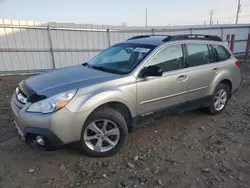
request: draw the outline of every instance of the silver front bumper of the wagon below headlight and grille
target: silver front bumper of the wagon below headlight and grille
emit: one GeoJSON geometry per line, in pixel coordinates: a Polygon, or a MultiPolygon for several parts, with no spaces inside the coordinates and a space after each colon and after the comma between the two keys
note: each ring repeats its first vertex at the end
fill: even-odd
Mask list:
{"type": "Polygon", "coordinates": [[[29,105],[21,105],[16,95],[12,96],[11,109],[17,132],[26,142],[30,135],[44,136],[52,147],[80,140],[82,126],[90,112],[71,112],[65,107],[50,114],[31,113],[26,111],[29,105]]]}

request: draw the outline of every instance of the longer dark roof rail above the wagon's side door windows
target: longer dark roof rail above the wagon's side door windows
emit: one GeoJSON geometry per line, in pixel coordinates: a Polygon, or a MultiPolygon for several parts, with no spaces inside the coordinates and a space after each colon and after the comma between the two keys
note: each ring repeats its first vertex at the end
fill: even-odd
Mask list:
{"type": "Polygon", "coordinates": [[[222,41],[222,39],[216,35],[200,35],[200,34],[187,34],[187,35],[173,35],[165,38],[163,42],[177,41],[177,40],[211,40],[222,41]]]}

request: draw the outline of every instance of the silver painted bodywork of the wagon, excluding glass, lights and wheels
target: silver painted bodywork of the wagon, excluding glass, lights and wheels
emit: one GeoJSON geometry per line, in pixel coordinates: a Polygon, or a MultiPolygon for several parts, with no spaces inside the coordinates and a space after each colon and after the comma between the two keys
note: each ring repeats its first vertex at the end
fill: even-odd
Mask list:
{"type": "MultiPolygon", "coordinates": [[[[137,39],[129,42],[139,43],[140,41],[142,43],[144,40],[137,39]]],[[[149,43],[150,39],[144,41],[144,44],[149,43]]],[[[211,43],[227,48],[222,42],[187,40],[164,43],[157,39],[153,44],[158,46],[127,75],[107,73],[82,65],[40,74],[26,80],[26,84],[39,95],[50,97],[72,89],[78,89],[78,91],[62,110],[47,115],[34,114],[26,112],[30,105],[26,104],[20,114],[14,114],[14,118],[22,130],[34,125],[46,127],[53,130],[64,143],[69,143],[80,140],[82,126],[87,117],[96,108],[109,102],[126,105],[132,118],[135,118],[168,106],[211,96],[216,86],[223,80],[229,80],[232,83],[232,92],[239,87],[240,69],[235,65],[236,59],[232,54],[232,57],[226,61],[165,72],[161,77],[140,78],[138,76],[162,49],[188,43],[211,43]],[[215,68],[219,70],[216,73],[213,72],[215,68]],[[178,78],[181,75],[186,75],[187,79],[179,82],[178,78]]],[[[13,104],[12,109],[14,109],[13,104]]]]}

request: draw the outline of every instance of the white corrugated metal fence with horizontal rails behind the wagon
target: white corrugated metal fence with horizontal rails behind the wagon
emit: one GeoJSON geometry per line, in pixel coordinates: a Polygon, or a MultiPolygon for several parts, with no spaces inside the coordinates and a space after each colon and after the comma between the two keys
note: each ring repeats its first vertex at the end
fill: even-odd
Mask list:
{"type": "Polygon", "coordinates": [[[0,75],[33,73],[86,62],[108,46],[135,35],[206,34],[226,40],[235,34],[234,53],[244,53],[250,24],[122,27],[0,19],[0,75]]]}

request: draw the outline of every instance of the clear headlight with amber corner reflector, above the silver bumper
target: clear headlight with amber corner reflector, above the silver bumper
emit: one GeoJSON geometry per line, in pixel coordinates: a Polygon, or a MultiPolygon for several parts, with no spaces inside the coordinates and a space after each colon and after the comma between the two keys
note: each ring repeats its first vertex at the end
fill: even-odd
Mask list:
{"type": "Polygon", "coordinates": [[[60,110],[74,97],[77,90],[71,90],[42,101],[33,103],[27,109],[28,112],[40,112],[43,114],[51,113],[56,110],[60,110]]]}

